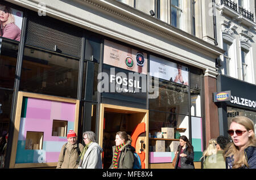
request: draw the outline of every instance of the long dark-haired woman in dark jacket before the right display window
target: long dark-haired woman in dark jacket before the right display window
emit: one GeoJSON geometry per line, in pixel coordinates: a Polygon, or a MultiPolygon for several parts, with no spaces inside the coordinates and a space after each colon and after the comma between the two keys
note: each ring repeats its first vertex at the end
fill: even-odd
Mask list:
{"type": "Polygon", "coordinates": [[[193,146],[189,142],[187,136],[180,136],[180,145],[175,152],[177,160],[175,169],[195,169],[193,146]]]}

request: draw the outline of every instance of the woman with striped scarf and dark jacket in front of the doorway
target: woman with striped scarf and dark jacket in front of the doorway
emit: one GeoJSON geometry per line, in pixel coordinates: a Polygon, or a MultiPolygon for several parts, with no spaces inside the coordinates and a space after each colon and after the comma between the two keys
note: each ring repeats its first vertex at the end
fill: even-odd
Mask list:
{"type": "Polygon", "coordinates": [[[132,169],[135,148],[131,146],[131,136],[125,131],[118,131],[115,135],[115,145],[113,146],[113,158],[110,168],[132,169]]]}

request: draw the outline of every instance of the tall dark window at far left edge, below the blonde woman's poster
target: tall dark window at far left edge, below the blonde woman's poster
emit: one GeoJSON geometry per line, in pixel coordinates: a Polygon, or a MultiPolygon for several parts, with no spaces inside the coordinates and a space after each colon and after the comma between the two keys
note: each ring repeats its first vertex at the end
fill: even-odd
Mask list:
{"type": "Polygon", "coordinates": [[[0,41],[0,168],[4,168],[19,44],[5,38],[0,41]]]}

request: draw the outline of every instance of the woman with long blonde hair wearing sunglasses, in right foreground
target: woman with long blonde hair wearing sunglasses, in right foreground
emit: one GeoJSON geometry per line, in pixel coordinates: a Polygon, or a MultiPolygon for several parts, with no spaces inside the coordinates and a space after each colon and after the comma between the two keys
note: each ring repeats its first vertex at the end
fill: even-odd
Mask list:
{"type": "Polygon", "coordinates": [[[256,138],[254,123],[245,116],[236,116],[231,119],[228,134],[233,143],[225,151],[226,168],[256,168],[256,138]]]}

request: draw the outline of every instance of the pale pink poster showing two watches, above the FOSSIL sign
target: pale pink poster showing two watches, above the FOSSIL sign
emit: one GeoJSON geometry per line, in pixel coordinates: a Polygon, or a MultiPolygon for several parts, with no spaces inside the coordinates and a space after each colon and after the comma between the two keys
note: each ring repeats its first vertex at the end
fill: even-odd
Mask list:
{"type": "Polygon", "coordinates": [[[147,54],[114,42],[104,41],[105,64],[147,74],[147,54]]]}

